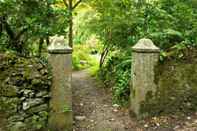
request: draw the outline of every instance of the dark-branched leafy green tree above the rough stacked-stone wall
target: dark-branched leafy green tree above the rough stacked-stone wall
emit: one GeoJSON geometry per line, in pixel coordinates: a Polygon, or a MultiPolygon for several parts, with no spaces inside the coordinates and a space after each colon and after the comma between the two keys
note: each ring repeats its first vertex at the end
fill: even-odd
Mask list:
{"type": "MultiPolygon", "coordinates": [[[[67,11],[56,6],[56,1],[0,0],[0,49],[33,54],[33,44],[66,33],[67,15],[67,11]]],[[[40,45],[40,51],[41,48],[40,45]]]]}

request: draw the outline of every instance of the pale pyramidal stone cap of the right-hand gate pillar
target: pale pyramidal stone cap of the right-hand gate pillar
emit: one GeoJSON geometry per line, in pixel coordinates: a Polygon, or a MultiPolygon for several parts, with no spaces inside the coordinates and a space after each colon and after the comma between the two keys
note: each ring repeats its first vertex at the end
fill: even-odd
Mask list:
{"type": "Polygon", "coordinates": [[[140,39],[136,45],[132,47],[134,52],[142,53],[158,53],[160,49],[153,44],[150,39],[140,39]]]}

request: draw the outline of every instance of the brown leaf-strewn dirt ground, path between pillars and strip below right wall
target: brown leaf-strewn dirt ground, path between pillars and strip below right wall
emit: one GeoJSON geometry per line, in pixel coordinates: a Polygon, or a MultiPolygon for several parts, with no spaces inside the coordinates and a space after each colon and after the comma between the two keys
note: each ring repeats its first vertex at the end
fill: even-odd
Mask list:
{"type": "Polygon", "coordinates": [[[112,104],[110,88],[87,70],[73,72],[73,131],[197,131],[197,113],[137,121],[128,108],[112,104]]]}

